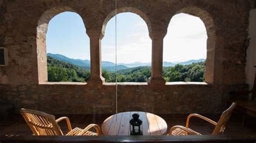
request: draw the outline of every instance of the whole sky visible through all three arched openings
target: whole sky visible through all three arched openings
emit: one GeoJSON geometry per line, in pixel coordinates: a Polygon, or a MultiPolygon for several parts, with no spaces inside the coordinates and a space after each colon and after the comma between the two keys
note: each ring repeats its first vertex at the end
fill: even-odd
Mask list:
{"type": "MultiPolygon", "coordinates": [[[[115,17],[106,25],[102,39],[102,60],[115,62],[115,17]]],[[[207,34],[198,17],[184,13],[172,17],[164,38],[163,61],[206,59],[207,34]]],[[[117,15],[117,62],[151,62],[151,39],[144,20],[125,12],[117,15]]],[[[74,12],[53,17],[46,33],[48,53],[90,60],[90,39],[82,18],[74,12]]]]}

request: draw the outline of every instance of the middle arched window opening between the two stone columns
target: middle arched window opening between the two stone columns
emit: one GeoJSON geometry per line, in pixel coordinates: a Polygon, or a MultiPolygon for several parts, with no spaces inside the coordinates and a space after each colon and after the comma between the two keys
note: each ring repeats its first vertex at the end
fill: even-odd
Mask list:
{"type": "MultiPolygon", "coordinates": [[[[115,82],[115,18],[102,40],[102,75],[115,82]]],[[[117,15],[117,82],[147,82],[151,76],[151,39],[145,21],[131,12],[117,15]]]]}

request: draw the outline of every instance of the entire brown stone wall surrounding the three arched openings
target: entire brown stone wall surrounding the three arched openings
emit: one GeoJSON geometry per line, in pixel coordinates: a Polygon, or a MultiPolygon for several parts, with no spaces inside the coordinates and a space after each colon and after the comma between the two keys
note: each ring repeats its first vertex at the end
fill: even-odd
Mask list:
{"type": "MultiPolygon", "coordinates": [[[[149,85],[119,85],[119,111],[154,113],[219,113],[228,92],[245,85],[248,16],[254,1],[119,0],[118,13],[142,17],[152,39],[149,85]],[[163,38],[172,16],[184,12],[200,17],[207,30],[206,82],[167,85],[161,77],[163,38]]],[[[0,46],[8,48],[9,66],[0,67],[0,100],[20,108],[51,113],[113,113],[114,85],[104,83],[100,40],[114,16],[114,1],[0,0],[0,46]],[[49,84],[45,34],[60,12],[77,12],[90,37],[91,78],[87,84],[49,84]]]]}

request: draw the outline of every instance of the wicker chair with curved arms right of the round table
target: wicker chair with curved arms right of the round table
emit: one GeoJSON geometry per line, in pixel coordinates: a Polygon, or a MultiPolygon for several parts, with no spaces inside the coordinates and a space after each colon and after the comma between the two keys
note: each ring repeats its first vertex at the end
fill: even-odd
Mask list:
{"type": "Polygon", "coordinates": [[[228,108],[221,114],[218,123],[216,123],[215,121],[208,119],[204,116],[193,113],[193,114],[187,116],[186,127],[173,126],[170,129],[169,135],[201,135],[200,133],[193,131],[188,127],[191,117],[198,117],[198,118],[208,121],[208,123],[215,125],[212,135],[224,133],[227,121],[228,121],[228,119],[230,119],[231,113],[234,110],[235,105],[236,105],[236,103],[233,102],[232,105],[230,106],[230,108],[228,108]]]}

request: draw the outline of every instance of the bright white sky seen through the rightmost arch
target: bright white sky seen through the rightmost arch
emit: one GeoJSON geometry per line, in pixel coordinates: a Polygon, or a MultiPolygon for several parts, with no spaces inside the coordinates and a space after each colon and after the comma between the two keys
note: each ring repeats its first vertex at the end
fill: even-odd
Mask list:
{"type": "Polygon", "coordinates": [[[164,38],[164,61],[206,58],[206,28],[200,18],[180,13],[173,16],[164,38]]]}

